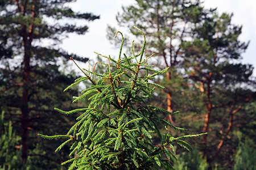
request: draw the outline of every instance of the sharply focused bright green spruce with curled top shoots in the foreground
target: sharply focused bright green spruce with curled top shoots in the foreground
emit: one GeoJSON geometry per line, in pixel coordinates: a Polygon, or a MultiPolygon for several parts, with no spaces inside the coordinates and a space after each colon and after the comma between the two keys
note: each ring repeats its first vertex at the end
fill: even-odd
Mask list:
{"type": "MultiPolygon", "coordinates": [[[[142,32],[141,29],[138,30],[142,32]]],[[[115,37],[118,33],[122,35],[117,32],[115,37]]],[[[67,141],[56,151],[67,143],[72,144],[69,154],[72,159],[63,163],[71,163],[69,169],[174,169],[171,164],[176,159],[173,144],[177,143],[186,150],[191,150],[192,147],[183,139],[203,135],[172,136],[168,128],[182,131],[187,129],[177,128],[159,118],[158,114],[174,115],[179,112],[171,113],[147,104],[146,100],[152,97],[155,87],[164,88],[151,80],[166,73],[169,68],[158,71],[152,68],[154,66],[148,65],[151,56],[143,55],[146,45],[144,33],[143,36],[144,42],[139,54],[134,53],[133,42],[132,56],[123,54],[121,58],[124,41],[122,36],[118,59],[101,55],[108,59],[108,63],[96,63],[106,67],[105,73],[96,73],[95,66],[93,70],[81,69],[85,76],[65,88],[64,91],[67,91],[84,80],[89,80],[92,84],[73,100],[75,103],[92,95],[88,107],[68,112],[55,108],[63,114],[81,113],[67,134],[39,134],[46,139],[66,138],[67,141]],[[148,74],[149,71],[154,74],[148,74]],[[157,145],[152,143],[154,134],[160,141],[157,145]]]]}

